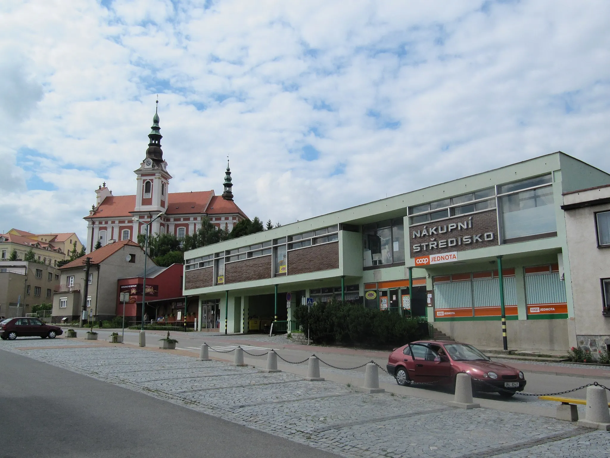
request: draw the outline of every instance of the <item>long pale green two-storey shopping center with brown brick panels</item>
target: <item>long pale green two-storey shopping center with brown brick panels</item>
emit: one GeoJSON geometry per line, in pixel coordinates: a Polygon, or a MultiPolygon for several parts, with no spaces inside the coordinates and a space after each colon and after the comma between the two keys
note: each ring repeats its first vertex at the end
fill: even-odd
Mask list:
{"type": "MultiPolygon", "coordinates": [[[[565,350],[578,340],[570,261],[584,253],[570,252],[564,195],[608,184],[608,173],[547,154],[192,250],[184,294],[198,296],[199,316],[212,312],[221,330],[226,319],[228,332],[290,321],[303,297],[334,297],[402,309],[493,347],[502,347],[503,300],[510,348],[565,350]]],[[[604,265],[587,275],[607,279],[604,265]]],[[[595,335],[610,337],[601,301],[578,304],[592,310],[581,313],[578,335],[589,335],[591,321],[595,335]]]]}

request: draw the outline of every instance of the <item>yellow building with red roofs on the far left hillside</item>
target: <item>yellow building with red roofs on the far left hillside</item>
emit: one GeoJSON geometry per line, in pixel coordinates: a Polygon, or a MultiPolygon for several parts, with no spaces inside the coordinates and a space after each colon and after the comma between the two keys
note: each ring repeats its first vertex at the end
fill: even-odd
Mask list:
{"type": "Polygon", "coordinates": [[[9,260],[10,254],[15,250],[18,260],[24,260],[26,253],[31,249],[38,263],[57,266],[59,261],[69,258],[74,250],[82,249],[81,241],[73,233],[33,234],[27,231],[11,229],[0,234],[0,259],[9,260]]]}

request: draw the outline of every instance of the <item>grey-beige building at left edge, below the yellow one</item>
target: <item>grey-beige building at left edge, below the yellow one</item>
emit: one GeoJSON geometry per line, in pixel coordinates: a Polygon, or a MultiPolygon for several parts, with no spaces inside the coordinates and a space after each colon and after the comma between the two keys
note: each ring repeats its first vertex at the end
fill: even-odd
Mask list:
{"type": "Polygon", "coordinates": [[[48,264],[0,261],[0,316],[25,316],[32,305],[51,304],[59,270],[48,264]]]}

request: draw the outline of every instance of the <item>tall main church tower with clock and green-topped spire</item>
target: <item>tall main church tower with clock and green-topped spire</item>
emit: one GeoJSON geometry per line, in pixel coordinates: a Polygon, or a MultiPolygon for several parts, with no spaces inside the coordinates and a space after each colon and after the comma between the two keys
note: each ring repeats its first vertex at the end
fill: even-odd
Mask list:
{"type": "MultiPolygon", "coordinates": [[[[163,150],[161,149],[163,136],[160,134],[158,113],[159,100],[156,103],[157,108],[154,117],[152,117],[151,133],[148,134],[150,142],[146,150],[146,158],[140,164],[140,168],[134,170],[135,175],[137,175],[133,212],[135,216],[140,212],[154,214],[167,211],[171,175],[167,172],[167,162],[163,160],[163,150]]],[[[152,232],[155,233],[156,231],[153,230],[152,232]]]]}

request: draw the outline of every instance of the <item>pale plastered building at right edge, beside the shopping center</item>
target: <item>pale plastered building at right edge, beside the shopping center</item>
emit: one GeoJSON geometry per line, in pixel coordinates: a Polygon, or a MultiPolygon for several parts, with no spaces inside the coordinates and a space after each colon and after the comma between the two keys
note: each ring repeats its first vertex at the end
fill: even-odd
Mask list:
{"type": "Polygon", "coordinates": [[[576,343],[610,351],[610,186],[564,193],[576,343]]]}

